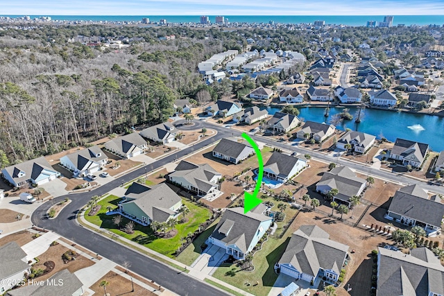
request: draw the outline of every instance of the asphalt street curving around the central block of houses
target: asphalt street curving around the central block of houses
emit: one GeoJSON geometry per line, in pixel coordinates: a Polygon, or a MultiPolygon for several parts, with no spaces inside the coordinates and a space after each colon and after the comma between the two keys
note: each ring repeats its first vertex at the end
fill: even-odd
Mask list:
{"type": "MultiPolygon", "coordinates": [[[[179,129],[181,128],[181,123],[182,121],[178,121],[177,123],[175,123],[179,129]]],[[[174,293],[178,293],[179,295],[226,295],[225,293],[221,292],[221,290],[217,290],[216,288],[205,284],[203,281],[198,281],[193,277],[189,277],[189,275],[178,273],[177,270],[169,268],[168,265],[164,265],[163,263],[150,259],[142,254],[139,254],[138,252],[131,250],[129,247],[120,245],[108,238],[104,238],[103,236],[100,236],[99,234],[96,234],[88,229],[79,227],[75,222],[78,210],[88,202],[92,195],[103,195],[116,188],[117,186],[120,186],[122,183],[133,180],[140,175],[144,175],[145,168],[147,168],[147,170],[149,171],[153,171],[160,166],[164,166],[165,164],[174,162],[180,157],[184,157],[189,153],[193,153],[200,148],[210,145],[211,143],[214,143],[221,138],[241,135],[241,132],[238,130],[225,128],[221,125],[207,123],[205,121],[200,121],[200,123],[194,125],[194,128],[200,128],[201,126],[205,128],[212,128],[213,130],[216,130],[218,134],[216,134],[214,137],[211,137],[210,139],[198,142],[194,146],[180,150],[177,153],[168,155],[167,157],[157,160],[152,164],[148,164],[142,168],[137,169],[136,171],[123,175],[108,184],[94,189],[93,191],[69,194],[55,198],[55,202],[59,202],[67,197],[72,200],[71,203],[68,204],[67,207],[65,207],[65,209],[60,212],[56,219],[43,220],[43,217],[46,215],[46,211],[49,209],[49,207],[51,207],[51,202],[45,202],[33,213],[31,217],[33,224],[37,225],[38,227],[51,229],[54,232],[57,232],[58,234],[69,238],[71,241],[87,247],[89,250],[92,250],[93,252],[96,252],[101,256],[105,256],[115,263],[122,264],[123,261],[128,261],[131,263],[130,270],[133,270],[134,272],[137,272],[139,275],[142,275],[148,279],[156,281],[158,284],[164,286],[169,290],[172,290],[174,293]]],[[[184,126],[184,128],[187,127],[184,126]]],[[[317,151],[293,146],[289,142],[282,143],[259,136],[253,136],[253,139],[255,139],[256,141],[264,142],[268,145],[276,146],[278,148],[292,150],[297,153],[310,153],[314,159],[318,159],[323,162],[336,162],[338,160],[336,159],[336,157],[325,155],[323,153],[318,153],[317,151]]],[[[441,186],[430,185],[426,182],[421,182],[419,180],[405,177],[404,175],[398,175],[395,173],[370,168],[369,166],[365,166],[364,164],[357,164],[346,159],[339,159],[339,162],[343,165],[350,166],[350,168],[353,168],[364,174],[374,175],[375,177],[381,177],[386,180],[392,180],[403,184],[420,184],[424,189],[444,194],[444,188],[441,186]]]]}

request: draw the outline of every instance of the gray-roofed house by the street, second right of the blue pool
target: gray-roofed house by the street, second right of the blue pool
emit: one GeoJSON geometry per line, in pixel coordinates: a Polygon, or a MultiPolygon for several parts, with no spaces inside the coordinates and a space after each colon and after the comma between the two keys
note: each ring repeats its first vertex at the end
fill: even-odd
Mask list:
{"type": "Polygon", "coordinates": [[[322,175],[321,180],[316,184],[316,191],[326,195],[328,191],[338,189],[339,193],[333,197],[333,200],[350,207],[350,198],[361,195],[366,188],[366,183],[366,180],[357,177],[348,166],[339,166],[322,175]]]}

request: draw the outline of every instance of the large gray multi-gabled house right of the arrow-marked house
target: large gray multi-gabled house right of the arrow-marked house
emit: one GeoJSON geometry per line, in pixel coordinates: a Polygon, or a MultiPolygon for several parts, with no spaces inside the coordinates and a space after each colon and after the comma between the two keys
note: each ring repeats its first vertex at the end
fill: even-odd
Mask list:
{"type": "Polygon", "coordinates": [[[316,225],[301,225],[276,263],[280,273],[302,281],[319,277],[336,284],[348,258],[348,245],[330,240],[330,234],[316,225]]]}

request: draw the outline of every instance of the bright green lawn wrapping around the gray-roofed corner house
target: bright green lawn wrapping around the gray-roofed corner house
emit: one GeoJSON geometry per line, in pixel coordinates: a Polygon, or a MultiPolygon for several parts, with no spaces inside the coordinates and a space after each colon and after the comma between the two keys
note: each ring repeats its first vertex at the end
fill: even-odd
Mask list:
{"type": "MultiPolygon", "coordinates": [[[[117,225],[112,223],[112,218],[114,215],[108,216],[105,214],[108,211],[108,206],[111,206],[113,209],[117,208],[117,203],[119,200],[121,200],[121,198],[115,195],[110,195],[107,198],[104,198],[98,202],[98,204],[101,205],[101,209],[96,216],[88,216],[87,214],[89,213],[89,209],[85,212],[86,220],[171,258],[173,257],[174,252],[176,252],[180,246],[180,238],[185,238],[189,232],[195,232],[200,224],[205,223],[205,221],[211,217],[211,213],[208,209],[199,207],[196,204],[182,199],[183,204],[185,204],[190,211],[190,213],[187,215],[188,222],[176,225],[178,234],[176,234],[176,236],[173,238],[158,238],[155,236],[151,227],[142,226],[137,223],[135,223],[134,233],[126,234],[125,232],[119,230],[117,225]]],[[[121,227],[126,225],[128,222],[129,220],[127,218],[123,218],[121,227]]]]}

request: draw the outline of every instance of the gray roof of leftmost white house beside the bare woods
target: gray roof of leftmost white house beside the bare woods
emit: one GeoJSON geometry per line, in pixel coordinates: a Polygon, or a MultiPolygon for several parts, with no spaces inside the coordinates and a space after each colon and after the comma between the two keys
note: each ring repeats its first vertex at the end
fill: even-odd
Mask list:
{"type": "Polygon", "coordinates": [[[7,171],[16,183],[29,179],[35,180],[43,170],[56,172],[56,170],[51,167],[51,164],[49,164],[44,157],[37,157],[36,159],[31,159],[27,162],[14,164],[13,166],[3,168],[3,170],[7,171]],[[20,172],[24,172],[25,175],[23,177],[19,177],[18,175],[20,172]]]}

